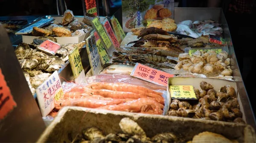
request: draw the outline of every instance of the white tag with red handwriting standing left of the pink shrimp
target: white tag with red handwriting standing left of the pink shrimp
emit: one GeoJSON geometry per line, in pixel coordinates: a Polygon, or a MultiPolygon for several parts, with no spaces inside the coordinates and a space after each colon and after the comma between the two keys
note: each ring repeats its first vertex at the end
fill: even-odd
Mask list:
{"type": "Polygon", "coordinates": [[[61,90],[61,80],[57,71],[52,73],[52,75],[35,90],[43,117],[46,117],[55,107],[54,100],[58,101],[58,99],[62,97],[63,90],[61,90]]]}

